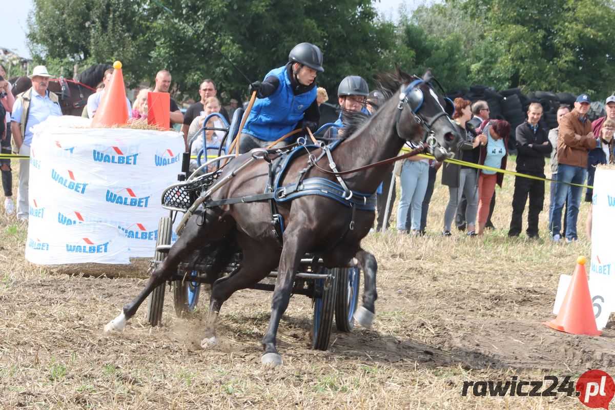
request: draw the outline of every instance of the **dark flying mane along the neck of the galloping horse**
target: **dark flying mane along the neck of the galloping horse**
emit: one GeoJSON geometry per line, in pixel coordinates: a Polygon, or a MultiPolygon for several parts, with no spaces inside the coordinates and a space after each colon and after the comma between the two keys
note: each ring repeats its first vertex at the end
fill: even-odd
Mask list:
{"type": "MultiPolygon", "coordinates": [[[[378,111],[385,101],[389,100],[402,87],[403,82],[410,82],[416,79],[416,76],[404,73],[399,67],[395,66],[394,73],[376,73],[376,90],[370,93],[376,101],[371,103],[375,108],[374,112],[378,111]]],[[[372,100],[373,101],[373,100],[372,100]]],[[[359,128],[370,119],[368,114],[362,111],[346,111],[344,110],[344,135],[351,136],[359,128]]]]}

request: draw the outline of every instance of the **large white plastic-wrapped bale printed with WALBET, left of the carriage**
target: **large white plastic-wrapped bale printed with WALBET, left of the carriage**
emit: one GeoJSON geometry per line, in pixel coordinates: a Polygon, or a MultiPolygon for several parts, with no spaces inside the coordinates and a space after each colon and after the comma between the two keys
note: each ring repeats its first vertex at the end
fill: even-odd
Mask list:
{"type": "Polygon", "coordinates": [[[161,195],[177,182],[183,136],[87,124],[50,117],[34,128],[28,261],[123,264],[154,254],[159,219],[169,215],[161,195]]]}

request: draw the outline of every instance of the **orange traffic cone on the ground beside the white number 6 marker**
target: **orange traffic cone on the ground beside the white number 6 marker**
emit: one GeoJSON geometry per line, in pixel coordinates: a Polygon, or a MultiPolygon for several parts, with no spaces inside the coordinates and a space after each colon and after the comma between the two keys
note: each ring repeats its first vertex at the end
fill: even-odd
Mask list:
{"type": "Polygon", "coordinates": [[[586,261],[584,256],[577,258],[577,267],[568,285],[566,296],[561,302],[560,312],[555,320],[544,324],[566,333],[600,336],[602,332],[596,326],[592,296],[589,294],[589,283],[585,273],[586,261]]]}

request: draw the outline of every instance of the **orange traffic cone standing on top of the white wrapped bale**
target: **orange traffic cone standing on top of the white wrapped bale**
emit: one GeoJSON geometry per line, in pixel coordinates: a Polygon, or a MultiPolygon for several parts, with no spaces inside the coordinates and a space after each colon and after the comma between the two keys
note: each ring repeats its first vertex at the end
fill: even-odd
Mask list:
{"type": "Polygon", "coordinates": [[[124,90],[124,76],[122,75],[122,63],[113,63],[113,77],[108,89],[98,105],[96,114],[90,127],[111,127],[128,122],[128,109],[126,106],[126,92],[124,90]]]}

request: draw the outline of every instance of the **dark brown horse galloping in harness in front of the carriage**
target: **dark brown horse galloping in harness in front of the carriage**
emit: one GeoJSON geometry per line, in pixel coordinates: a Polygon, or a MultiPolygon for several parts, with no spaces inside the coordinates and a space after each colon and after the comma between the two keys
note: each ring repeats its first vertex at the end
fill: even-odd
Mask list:
{"type": "MultiPolygon", "coordinates": [[[[423,79],[410,76],[399,69],[395,74],[381,77],[382,91],[387,96],[381,107],[363,124],[347,128],[351,135],[331,151],[337,169],[352,170],[363,165],[395,157],[406,141],[418,143],[427,140],[438,159],[450,151],[456,151],[459,132],[456,125],[446,116],[444,98],[435,93],[430,84],[431,72],[423,79]]],[[[435,79],[434,79],[435,81],[435,79]]],[[[250,160],[244,154],[232,160],[224,168],[220,178],[229,175],[240,165],[250,160]]],[[[322,157],[318,162],[328,168],[329,160],[322,157]]],[[[289,165],[284,185],[295,183],[300,171],[308,165],[308,155],[303,154],[289,165]]],[[[349,177],[344,181],[352,191],[375,192],[392,165],[373,167],[349,177]]],[[[336,177],[312,167],[307,177],[329,179],[336,183],[336,177]]],[[[218,179],[220,181],[220,178],[218,179]]],[[[263,192],[268,181],[268,164],[264,160],[253,162],[239,171],[221,189],[212,195],[212,200],[228,199],[263,192]]],[[[276,287],[273,293],[271,319],[263,338],[264,355],[262,363],[279,365],[282,357],[276,349],[276,334],[280,318],[285,312],[292,294],[295,274],[304,254],[317,254],[326,267],[359,266],[365,277],[362,306],[357,309],[355,319],[367,328],[375,313],[376,258],[363,250],[360,242],[373,226],[375,213],[357,210],[354,215],[354,229],[349,229],[351,208],[335,200],[317,195],[306,195],[289,202],[281,202],[279,213],[285,221],[284,240],[277,240],[271,229],[271,210],[267,202],[235,203],[216,207],[198,208],[188,219],[181,236],[170,248],[167,258],[154,269],[145,289],[122,309],[122,313],[105,326],[105,331],[121,331],[128,318],[135,315],[143,302],[157,286],[177,272],[178,264],[194,251],[215,244],[232,250],[242,250],[243,259],[238,270],[216,280],[212,286],[208,313],[208,329],[201,342],[204,348],[216,344],[215,325],[220,308],[235,291],[249,288],[278,267],[276,287]]],[[[216,266],[226,266],[232,251],[218,254],[216,266]]],[[[212,268],[213,269],[213,268],[212,268]]],[[[209,272],[208,272],[209,273],[209,272]]],[[[214,272],[217,274],[218,272],[214,272]]]]}

